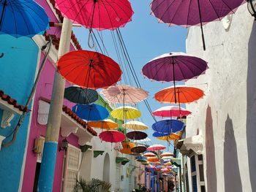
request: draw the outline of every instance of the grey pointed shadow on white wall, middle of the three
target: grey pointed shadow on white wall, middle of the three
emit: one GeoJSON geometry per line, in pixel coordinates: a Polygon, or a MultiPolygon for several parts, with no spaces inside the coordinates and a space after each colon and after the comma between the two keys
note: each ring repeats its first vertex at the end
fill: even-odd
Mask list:
{"type": "Polygon", "coordinates": [[[233,122],[229,115],[227,115],[227,120],[225,123],[224,179],[225,192],[243,191],[238,166],[238,154],[233,130],[233,122]]]}

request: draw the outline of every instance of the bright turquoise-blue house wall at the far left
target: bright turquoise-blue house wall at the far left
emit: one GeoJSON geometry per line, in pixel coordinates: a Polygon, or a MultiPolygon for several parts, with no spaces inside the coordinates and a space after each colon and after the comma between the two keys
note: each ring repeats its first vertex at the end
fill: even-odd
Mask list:
{"type": "MultiPolygon", "coordinates": [[[[18,104],[24,105],[34,83],[39,48],[32,39],[27,37],[16,39],[9,35],[0,35],[1,53],[4,53],[4,57],[0,58],[0,89],[16,99],[18,104]]],[[[18,191],[29,115],[30,112],[19,128],[15,143],[10,147],[1,147],[0,191],[18,191]]],[[[18,122],[18,118],[19,115],[15,115],[11,121],[11,127],[0,128],[0,134],[10,135],[18,122]]],[[[7,139],[4,141],[6,142],[7,139]]]]}

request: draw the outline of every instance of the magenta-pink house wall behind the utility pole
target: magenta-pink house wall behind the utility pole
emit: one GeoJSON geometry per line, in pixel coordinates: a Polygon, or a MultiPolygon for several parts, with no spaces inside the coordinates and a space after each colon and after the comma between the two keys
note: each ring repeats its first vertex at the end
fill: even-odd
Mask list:
{"type": "MultiPolygon", "coordinates": [[[[50,18],[50,21],[57,21],[55,15],[51,11],[47,1],[45,0],[37,0],[37,2],[45,8],[48,17],[50,18]]],[[[56,34],[57,37],[60,36],[60,30],[59,28],[50,28],[50,30],[47,31],[48,34],[56,34]]],[[[72,46],[71,50],[74,50],[72,46]]],[[[43,58],[43,54],[41,55],[41,60],[43,58]]],[[[23,186],[22,191],[23,192],[30,192],[33,191],[34,186],[34,175],[36,171],[37,166],[37,154],[33,152],[34,148],[34,139],[42,136],[45,136],[46,126],[39,125],[37,123],[37,115],[38,115],[38,104],[39,104],[39,97],[45,97],[46,99],[50,99],[52,89],[53,89],[53,79],[54,79],[54,72],[55,69],[53,67],[53,64],[50,63],[48,60],[45,64],[45,67],[43,69],[43,72],[41,74],[39,83],[37,85],[37,91],[35,93],[34,97],[34,107],[32,110],[32,120],[31,120],[31,129],[29,133],[29,144],[28,144],[28,150],[26,155],[26,164],[25,164],[25,171],[24,171],[24,177],[23,177],[23,186]]],[[[70,85],[68,82],[66,83],[66,86],[70,85]]],[[[70,103],[69,101],[64,99],[64,104],[68,107],[72,107],[74,104],[70,103]]],[[[59,143],[61,140],[64,139],[63,137],[59,137],[59,143]]],[[[78,138],[75,137],[75,135],[70,135],[67,140],[71,145],[74,145],[78,147],[78,138]]],[[[53,183],[53,191],[60,191],[61,190],[61,177],[62,177],[62,166],[63,166],[63,158],[64,158],[64,151],[61,152],[58,151],[57,153],[57,159],[56,159],[56,169],[55,169],[55,178],[53,183]]]]}

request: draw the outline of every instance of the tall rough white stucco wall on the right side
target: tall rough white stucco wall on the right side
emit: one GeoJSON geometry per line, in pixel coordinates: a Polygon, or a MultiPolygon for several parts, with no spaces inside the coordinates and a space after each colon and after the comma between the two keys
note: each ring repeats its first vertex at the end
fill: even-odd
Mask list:
{"type": "MultiPolygon", "coordinates": [[[[187,104],[187,137],[202,131],[206,189],[256,191],[256,23],[246,4],[225,31],[222,22],[204,26],[206,51],[199,27],[189,28],[187,53],[208,61],[209,69],[186,85],[205,95],[187,104]]],[[[191,183],[190,183],[191,185],[191,183]]]]}

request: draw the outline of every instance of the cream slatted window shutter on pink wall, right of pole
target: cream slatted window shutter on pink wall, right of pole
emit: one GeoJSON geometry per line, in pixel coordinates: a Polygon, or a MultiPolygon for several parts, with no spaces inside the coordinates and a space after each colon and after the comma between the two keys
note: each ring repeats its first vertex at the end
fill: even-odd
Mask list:
{"type": "Polygon", "coordinates": [[[72,192],[77,183],[78,170],[80,166],[80,149],[69,145],[67,147],[67,155],[64,162],[64,183],[62,191],[72,192]]]}

